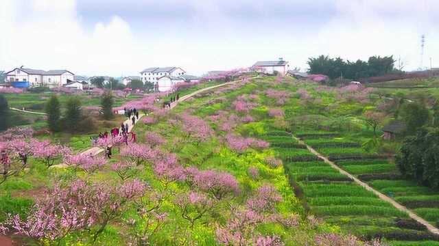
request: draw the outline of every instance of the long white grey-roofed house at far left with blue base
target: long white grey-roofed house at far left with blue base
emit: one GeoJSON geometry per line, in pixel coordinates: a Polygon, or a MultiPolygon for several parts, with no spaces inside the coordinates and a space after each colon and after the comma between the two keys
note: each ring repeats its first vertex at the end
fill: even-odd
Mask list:
{"type": "Polygon", "coordinates": [[[36,70],[31,68],[14,68],[6,72],[6,81],[14,87],[60,87],[74,80],[75,74],[68,70],[36,70]]]}

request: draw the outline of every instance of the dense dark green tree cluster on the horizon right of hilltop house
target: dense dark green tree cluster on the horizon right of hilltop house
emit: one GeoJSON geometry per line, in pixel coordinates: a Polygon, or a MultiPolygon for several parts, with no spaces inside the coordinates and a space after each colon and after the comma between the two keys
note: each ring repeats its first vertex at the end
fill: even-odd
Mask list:
{"type": "Polygon", "coordinates": [[[324,74],[330,79],[343,77],[346,79],[359,79],[366,77],[376,77],[394,72],[393,56],[372,56],[368,61],[349,61],[337,57],[320,55],[319,57],[310,57],[308,59],[309,70],[311,74],[324,74]]]}

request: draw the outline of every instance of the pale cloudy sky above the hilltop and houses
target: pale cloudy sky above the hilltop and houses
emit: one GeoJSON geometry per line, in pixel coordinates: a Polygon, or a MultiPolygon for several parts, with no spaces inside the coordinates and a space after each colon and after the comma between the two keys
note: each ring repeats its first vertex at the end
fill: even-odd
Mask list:
{"type": "Polygon", "coordinates": [[[0,0],[0,70],[188,74],[318,55],[439,67],[437,0],[0,0]]]}

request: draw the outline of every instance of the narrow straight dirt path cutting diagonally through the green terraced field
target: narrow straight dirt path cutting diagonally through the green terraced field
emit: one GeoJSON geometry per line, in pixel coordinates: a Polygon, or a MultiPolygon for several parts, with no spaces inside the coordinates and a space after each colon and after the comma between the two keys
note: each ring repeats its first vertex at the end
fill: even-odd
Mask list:
{"type": "Polygon", "coordinates": [[[423,218],[419,217],[418,215],[416,215],[415,213],[413,213],[412,210],[410,210],[410,209],[406,208],[405,206],[399,204],[398,202],[396,202],[392,198],[388,197],[387,195],[384,195],[383,193],[377,191],[376,189],[373,189],[368,184],[366,184],[365,182],[359,180],[357,177],[353,176],[352,174],[344,171],[344,169],[342,169],[339,166],[337,166],[333,161],[329,161],[329,159],[327,159],[326,156],[323,156],[322,154],[320,154],[319,152],[317,152],[316,150],[311,148],[311,146],[307,145],[305,143],[305,141],[302,141],[302,140],[300,140],[300,139],[298,139],[296,137],[294,137],[294,138],[297,139],[299,143],[305,144],[307,146],[307,149],[309,150],[309,152],[311,152],[313,154],[316,154],[316,156],[318,156],[320,159],[322,159],[325,163],[328,163],[329,165],[331,165],[331,167],[333,167],[334,169],[337,169],[337,171],[340,172],[341,174],[344,174],[344,175],[348,176],[349,178],[354,180],[354,182],[356,182],[357,184],[361,185],[361,187],[364,187],[364,189],[366,189],[368,191],[372,191],[381,200],[384,200],[385,202],[389,202],[390,204],[392,204],[396,209],[400,210],[401,212],[407,213],[412,219],[414,219],[414,220],[418,221],[419,223],[423,224],[424,226],[426,226],[427,229],[429,230],[429,232],[434,233],[434,234],[439,234],[438,228],[434,227],[433,225],[431,225],[431,223],[429,223],[425,219],[423,219],[423,218]]]}

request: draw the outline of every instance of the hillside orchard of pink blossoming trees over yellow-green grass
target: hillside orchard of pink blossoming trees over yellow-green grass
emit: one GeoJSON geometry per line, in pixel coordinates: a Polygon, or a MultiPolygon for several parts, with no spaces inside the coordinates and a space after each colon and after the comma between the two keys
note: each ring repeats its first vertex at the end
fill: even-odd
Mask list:
{"type": "Polygon", "coordinates": [[[94,142],[115,147],[111,159],[36,139],[25,128],[0,134],[7,156],[0,205],[19,204],[20,196],[34,201],[0,206],[0,233],[37,245],[366,245],[308,217],[285,176],[290,162],[282,154],[297,143],[276,122],[296,107],[294,86],[289,78],[244,75],[172,111],[158,106],[161,94],[127,102],[118,109],[150,115],[133,128],[136,143],[94,142]]]}

